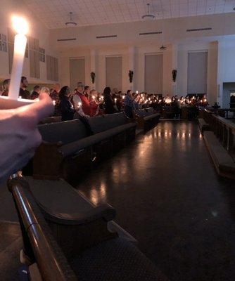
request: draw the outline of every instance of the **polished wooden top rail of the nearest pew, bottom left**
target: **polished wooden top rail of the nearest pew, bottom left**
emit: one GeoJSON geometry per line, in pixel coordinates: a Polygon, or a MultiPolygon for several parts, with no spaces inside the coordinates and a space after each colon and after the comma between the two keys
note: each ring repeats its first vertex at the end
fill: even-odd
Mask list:
{"type": "Polygon", "coordinates": [[[39,207],[22,178],[8,181],[15,205],[30,240],[30,245],[44,281],[75,281],[77,277],[68,265],[58,244],[53,239],[49,226],[44,221],[39,207]]]}

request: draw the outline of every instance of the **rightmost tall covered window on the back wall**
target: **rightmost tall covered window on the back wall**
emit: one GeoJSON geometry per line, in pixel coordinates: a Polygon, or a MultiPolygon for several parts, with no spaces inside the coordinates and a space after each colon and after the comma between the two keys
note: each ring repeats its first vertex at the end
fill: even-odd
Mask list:
{"type": "Polygon", "coordinates": [[[208,51],[188,53],[188,93],[207,93],[208,51]]]}

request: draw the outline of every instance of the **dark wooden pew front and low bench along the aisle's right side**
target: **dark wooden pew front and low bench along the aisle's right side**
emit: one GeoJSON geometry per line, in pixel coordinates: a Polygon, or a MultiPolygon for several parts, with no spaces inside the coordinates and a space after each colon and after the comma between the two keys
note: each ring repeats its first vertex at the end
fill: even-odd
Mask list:
{"type": "Polygon", "coordinates": [[[235,123],[203,109],[199,112],[198,125],[217,174],[235,179],[235,123]]]}

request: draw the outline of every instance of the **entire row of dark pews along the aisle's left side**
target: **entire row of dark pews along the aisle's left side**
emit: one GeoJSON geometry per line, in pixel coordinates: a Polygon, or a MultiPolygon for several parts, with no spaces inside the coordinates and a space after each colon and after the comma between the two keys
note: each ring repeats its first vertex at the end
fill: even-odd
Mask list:
{"type": "Polygon", "coordinates": [[[115,209],[92,204],[70,184],[131,143],[136,128],[158,123],[158,114],[144,112],[134,119],[120,112],[39,124],[42,145],[24,176],[8,181],[24,242],[24,280],[167,281],[134,237],[115,223],[115,209]],[[140,120],[147,116],[143,125],[140,120]]]}

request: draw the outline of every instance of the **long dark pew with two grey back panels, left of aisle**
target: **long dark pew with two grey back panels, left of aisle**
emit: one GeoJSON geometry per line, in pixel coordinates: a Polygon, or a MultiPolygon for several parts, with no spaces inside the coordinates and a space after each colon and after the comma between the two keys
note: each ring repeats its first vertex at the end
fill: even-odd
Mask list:
{"type": "Polygon", "coordinates": [[[65,178],[70,183],[91,169],[92,163],[112,155],[135,138],[136,123],[124,113],[39,125],[43,143],[33,157],[33,176],[65,178]]]}

